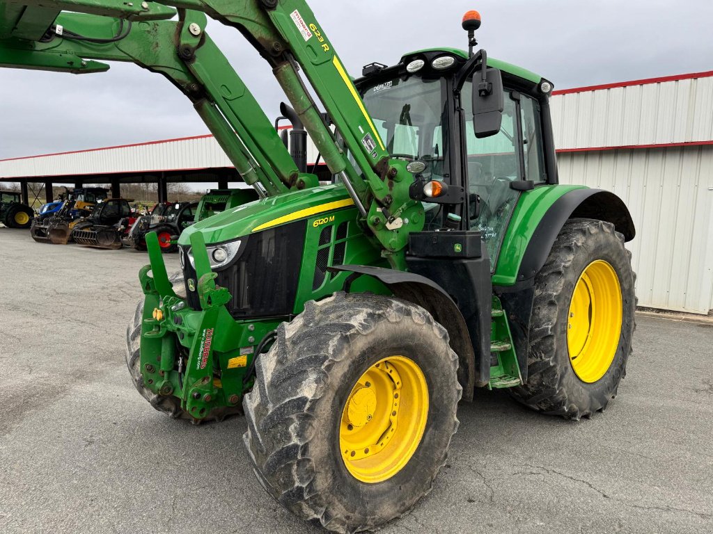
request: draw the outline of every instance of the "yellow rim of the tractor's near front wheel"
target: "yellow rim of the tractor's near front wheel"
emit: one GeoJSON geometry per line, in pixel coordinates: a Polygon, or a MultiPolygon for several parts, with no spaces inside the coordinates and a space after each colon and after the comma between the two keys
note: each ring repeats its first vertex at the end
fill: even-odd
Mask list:
{"type": "Polygon", "coordinates": [[[359,377],[342,409],[339,446],[361,482],[388,480],[419,448],[429,416],[421,367],[404,356],[379,360],[359,377]]]}

